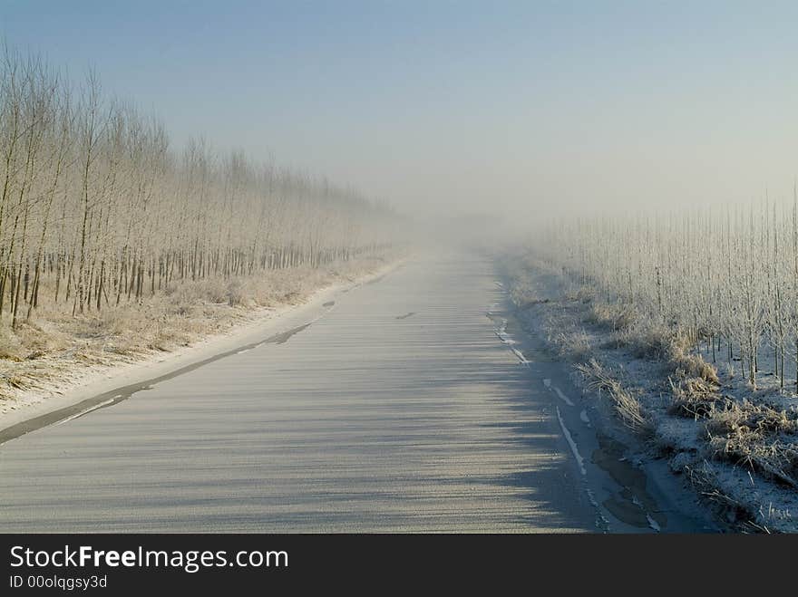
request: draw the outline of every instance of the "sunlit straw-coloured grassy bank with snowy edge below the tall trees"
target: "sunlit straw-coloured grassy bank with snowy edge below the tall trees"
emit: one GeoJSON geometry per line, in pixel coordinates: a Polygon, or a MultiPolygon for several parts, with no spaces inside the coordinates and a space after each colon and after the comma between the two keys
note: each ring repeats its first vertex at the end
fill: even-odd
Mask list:
{"type": "MultiPolygon", "coordinates": [[[[35,326],[41,353],[0,361],[0,378],[5,380],[0,389],[0,429],[312,320],[333,307],[336,294],[379,278],[402,261],[394,255],[279,272],[258,281],[263,289],[254,289],[257,301],[236,306],[175,293],[117,310],[110,314],[112,319],[39,320],[35,326]],[[91,334],[83,330],[88,327],[91,334]]],[[[101,406],[92,404],[91,409],[101,406]]]]}

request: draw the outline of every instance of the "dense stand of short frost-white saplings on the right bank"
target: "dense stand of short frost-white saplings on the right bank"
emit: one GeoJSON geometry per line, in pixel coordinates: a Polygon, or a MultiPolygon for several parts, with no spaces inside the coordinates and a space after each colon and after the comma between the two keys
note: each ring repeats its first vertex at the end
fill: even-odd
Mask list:
{"type": "MultiPolygon", "coordinates": [[[[793,193],[794,195],[794,193],[793,193]]],[[[612,302],[706,342],[755,388],[764,360],[798,387],[798,202],[546,226],[537,251],[612,302]]]]}

